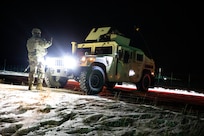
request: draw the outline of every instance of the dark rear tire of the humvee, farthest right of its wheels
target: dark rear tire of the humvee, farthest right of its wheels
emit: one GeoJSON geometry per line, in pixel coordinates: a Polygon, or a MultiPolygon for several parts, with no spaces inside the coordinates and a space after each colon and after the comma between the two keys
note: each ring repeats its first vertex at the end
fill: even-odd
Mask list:
{"type": "Polygon", "coordinates": [[[151,77],[150,74],[144,73],[141,80],[136,83],[137,90],[147,92],[151,85],[151,77]]]}

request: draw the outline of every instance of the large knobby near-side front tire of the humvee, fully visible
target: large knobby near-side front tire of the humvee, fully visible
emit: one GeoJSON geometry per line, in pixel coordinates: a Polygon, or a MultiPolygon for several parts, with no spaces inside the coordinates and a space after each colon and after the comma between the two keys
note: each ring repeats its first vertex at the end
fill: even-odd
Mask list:
{"type": "Polygon", "coordinates": [[[81,72],[80,88],[88,95],[98,94],[105,83],[105,73],[101,67],[93,66],[87,71],[81,72]]]}

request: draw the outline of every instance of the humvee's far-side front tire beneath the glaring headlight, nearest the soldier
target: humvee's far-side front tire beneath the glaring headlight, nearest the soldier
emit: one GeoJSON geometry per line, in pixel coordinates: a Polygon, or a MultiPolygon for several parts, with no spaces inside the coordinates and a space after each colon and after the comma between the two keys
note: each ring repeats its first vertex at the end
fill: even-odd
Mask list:
{"type": "Polygon", "coordinates": [[[68,78],[52,76],[49,69],[45,72],[45,84],[50,88],[63,88],[67,84],[68,78]]]}

